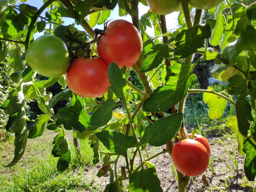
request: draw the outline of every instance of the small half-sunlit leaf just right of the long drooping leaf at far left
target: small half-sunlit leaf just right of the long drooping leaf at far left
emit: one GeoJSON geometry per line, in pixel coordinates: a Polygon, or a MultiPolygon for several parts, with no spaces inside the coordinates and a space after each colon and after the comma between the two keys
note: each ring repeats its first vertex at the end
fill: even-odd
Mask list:
{"type": "Polygon", "coordinates": [[[33,139],[41,136],[44,133],[49,120],[50,117],[48,115],[38,115],[38,118],[36,118],[35,121],[36,123],[31,127],[30,131],[28,132],[28,138],[33,139]]]}

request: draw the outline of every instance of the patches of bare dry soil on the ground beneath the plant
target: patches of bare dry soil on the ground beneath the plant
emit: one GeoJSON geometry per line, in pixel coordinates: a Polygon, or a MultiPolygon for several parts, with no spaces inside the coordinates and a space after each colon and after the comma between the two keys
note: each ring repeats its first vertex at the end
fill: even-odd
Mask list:
{"type": "MultiPolygon", "coordinates": [[[[37,138],[38,140],[42,140],[42,142],[49,142],[49,146],[52,146],[52,139],[57,133],[47,131],[44,135],[42,135],[40,138],[37,138]]],[[[72,142],[72,132],[68,133],[68,139],[70,142],[72,142]]],[[[190,180],[189,186],[187,188],[188,192],[252,192],[254,191],[253,186],[254,182],[249,182],[243,173],[243,163],[244,163],[244,156],[240,156],[238,152],[236,152],[236,158],[238,160],[238,173],[232,172],[228,169],[228,167],[224,164],[224,162],[220,159],[223,158],[223,160],[232,168],[235,170],[235,166],[232,163],[231,159],[225,152],[224,148],[221,146],[219,138],[208,138],[210,144],[211,144],[211,158],[213,160],[213,169],[215,170],[215,173],[212,173],[210,168],[207,169],[205,172],[205,176],[209,180],[209,183],[204,185],[202,181],[202,175],[193,178],[193,180],[190,180]]],[[[224,146],[227,148],[228,152],[231,154],[231,156],[234,158],[234,154],[231,150],[231,145],[234,147],[236,146],[235,143],[233,143],[233,140],[235,139],[232,137],[232,139],[228,139],[226,136],[225,138],[221,138],[224,140],[224,146]]],[[[22,157],[23,160],[19,164],[22,164],[22,161],[24,159],[30,158],[31,153],[29,152],[29,146],[33,145],[33,140],[28,140],[28,145],[26,152],[24,156],[22,157]]],[[[164,146],[160,148],[156,147],[147,147],[149,155],[159,152],[160,150],[164,149],[164,146]]],[[[236,150],[237,151],[237,150],[236,150]]],[[[37,153],[42,153],[41,151],[37,151],[37,153]]],[[[49,151],[51,153],[51,151],[49,151]]],[[[45,151],[44,151],[45,154],[45,151]]],[[[42,156],[44,156],[42,154],[42,156]]],[[[6,154],[9,156],[10,154],[6,154]]],[[[146,156],[145,153],[143,154],[144,157],[146,156]]],[[[131,155],[132,156],[132,155],[131,155]]],[[[5,158],[2,157],[2,160],[5,158]]],[[[7,160],[7,159],[5,159],[7,160]]],[[[10,160],[10,159],[9,159],[10,160]]],[[[121,166],[124,166],[124,158],[119,158],[119,164],[117,164],[118,168],[121,169],[121,166]]],[[[172,169],[171,169],[171,158],[169,154],[162,154],[150,161],[151,163],[155,164],[156,166],[156,172],[158,175],[158,178],[160,179],[161,186],[163,188],[164,192],[178,192],[178,182],[173,177],[172,169]]],[[[3,164],[2,162],[1,164],[3,164]]],[[[139,159],[135,159],[135,164],[139,164],[139,159]]],[[[101,168],[102,162],[98,163],[96,167],[93,167],[92,165],[87,166],[84,168],[84,177],[91,180],[91,183],[94,183],[95,186],[99,187],[99,192],[104,191],[105,185],[109,182],[109,174],[98,178],[96,176],[98,170],[101,168]]],[[[109,173],[109,172],[108,172],[109,173]]],[[[79,171],[77,171],[77,174],[80,174],[79,171]]],[[[125,181],[128,182],[128,181],[125,181]]],[[[256,191],[256,190],[255,190],[256,191]]],[[[157,192],[157,191],[156,191],[157,192]]]]}

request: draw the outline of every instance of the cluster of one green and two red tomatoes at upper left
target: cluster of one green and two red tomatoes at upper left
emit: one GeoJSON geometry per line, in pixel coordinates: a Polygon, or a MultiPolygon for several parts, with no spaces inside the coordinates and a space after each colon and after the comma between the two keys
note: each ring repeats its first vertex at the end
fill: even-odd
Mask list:
{"type": "Polygon", "coordinates": [[[69,66],[67,45],[57,36],[44,35],[28,48],[26,61],[37,73],[58,77],[66,73],[71,91],[82,97],[100,97],[108,91],[108,65],[116,62],[119,68],[131,67],[142,52],[138,29],[126,20],[108,24],[97,44],[100,58],[78,58],[69,66]]]}

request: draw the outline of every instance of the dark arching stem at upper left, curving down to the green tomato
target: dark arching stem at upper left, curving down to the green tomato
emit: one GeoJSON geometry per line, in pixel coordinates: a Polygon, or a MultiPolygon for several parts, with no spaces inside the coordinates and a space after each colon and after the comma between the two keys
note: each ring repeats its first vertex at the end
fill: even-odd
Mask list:
{"type": "Polygon", "coordinates": [[[28,26],[28,33],[27,33],[27,36],[26,36],[26,40],[24,42],[26,50],[28,49],[29,41],[30,41],[30,36],[31,36],[32,31],[33,31],[33,28],[34,28],[34,25],[36,23],[36,20],[38,18],[37,15],[41,15],[42,12],[44,11],[44,9],[46,9],[54,1],[56,1],[56,0],[48,0],[48,1],[46,1],[45,4],[43,4],[43,6],[36,12],[35,16],[32,17],[31,22],[30,22],[30,24],[28,26]]]}

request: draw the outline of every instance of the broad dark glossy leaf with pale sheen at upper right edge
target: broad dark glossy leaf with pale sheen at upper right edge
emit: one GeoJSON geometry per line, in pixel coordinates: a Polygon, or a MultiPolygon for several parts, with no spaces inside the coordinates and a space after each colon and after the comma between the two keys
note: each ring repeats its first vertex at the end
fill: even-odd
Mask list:
{"type": "Polygon", "coordinates": [[[230,66],[234,64],[236,57],[242,51],[256,51],[256,39],[251,38],[254,36],[256,36],[256,29],[252,26],[247,26],[246,30],[235,42],[228,44],[228,46],[223,49],[221,54],[225,60],[229,62],[230,66]]]}

